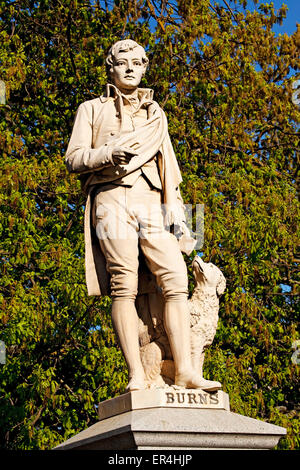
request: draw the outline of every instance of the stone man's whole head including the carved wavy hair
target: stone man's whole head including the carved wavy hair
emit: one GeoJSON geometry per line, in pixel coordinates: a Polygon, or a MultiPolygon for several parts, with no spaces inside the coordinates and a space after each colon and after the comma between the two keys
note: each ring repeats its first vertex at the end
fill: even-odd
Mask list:
{"type": "Polygon", "coordinates": [[[131,39],[124,39],[110,48],[106,71],[117,88],[134,90],[145,75],[148,63],[144,48],[131,39]]]}

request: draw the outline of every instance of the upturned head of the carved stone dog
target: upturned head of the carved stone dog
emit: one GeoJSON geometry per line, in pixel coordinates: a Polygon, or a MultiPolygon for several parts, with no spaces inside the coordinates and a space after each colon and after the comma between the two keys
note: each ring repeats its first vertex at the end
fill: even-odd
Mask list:
{"type": "Polygon", "coordinates": [[[200,256],[195,256],[192,263],[196,285],[202,289],[214,290],[220,297],[226,288],[222,271],[213,263],[205,263],[200,256]]]}

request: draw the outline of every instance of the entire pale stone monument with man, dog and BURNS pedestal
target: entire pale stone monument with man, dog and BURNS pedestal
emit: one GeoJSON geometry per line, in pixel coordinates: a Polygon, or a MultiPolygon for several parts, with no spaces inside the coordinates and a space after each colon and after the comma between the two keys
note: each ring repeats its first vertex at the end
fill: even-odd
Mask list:
{"type": "Polygon", "coordinates": [[[272,448],[285,429],[230,412],[229,397],[202,374],[226,281],[193,260],[181,174],[166,116],[139,88],[148,59],[126,39],[107,56],[104,95],[76,113],[66,152],[87,195],[89,295],[110,295],[129,374],[126,393],[99,404],[99,422],[57,449],[272,448]]]}

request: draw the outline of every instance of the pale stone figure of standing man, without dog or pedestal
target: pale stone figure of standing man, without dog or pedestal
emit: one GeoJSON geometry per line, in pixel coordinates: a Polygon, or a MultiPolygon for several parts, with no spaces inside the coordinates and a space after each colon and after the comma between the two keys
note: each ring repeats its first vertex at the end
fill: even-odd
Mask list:
{"type": "Polygon", "coordinates": [[[87,194],[88,293],[111,295],[112,321],[128,365],[127,391],[145,388],[135,308],[142,255],[164,296],[175,384],[217,390],[219,382],[203,379],[192,367],[181,250],[191,252],[193,243],[166,116],[153,91],[139,88],[148,59],[140,45],[126,39],[111,47],[106,63],[110,83],[103,96],[79,106],[66,153],[69,171],[80,175],[87,194]]]}

